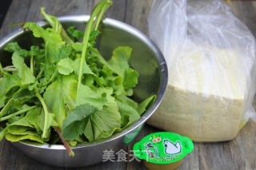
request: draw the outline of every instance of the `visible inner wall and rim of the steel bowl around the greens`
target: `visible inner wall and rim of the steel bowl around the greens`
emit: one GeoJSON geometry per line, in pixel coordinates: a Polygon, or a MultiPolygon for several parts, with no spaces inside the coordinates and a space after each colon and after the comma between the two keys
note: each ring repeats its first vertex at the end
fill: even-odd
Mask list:
{"type": "MultiPolygon", "coordinates": [[[[81,31],[84,31],[84,22],[88,19],[88,16],[59,18],[65,28],[76,26],[81,31]]],[[[46,22],[38,22],[38,25],[46,26],[46,22]]],[[[144,123],[162,101],[167,85],[166,62],[159,49],[145,34],[125,23],[106,18],[99,30],[101,34],[98,36],[97,46],[106,60],[110,59],[113,50],[120,45],[129,45],[133,49],[130,65],[139,73],[138,85],[134,89],[134,100],[140,102],[153,94],[158,96],[151,108],[144,113],[142,119],[137,124],[135,123],[133,128],[126,130],[127,133],[144,123]]],[[[41,45],[42,39],[34,38],[30,31],[22,29],[3,38],[0,41],[0,61],[3,66],[11,64],[11,53],[3,50],[9,42],[18,42],[22,48],[30,49],[30,45],[41,45]]],[[[120,132],[120,134],[123,133],[120,132]]]]}

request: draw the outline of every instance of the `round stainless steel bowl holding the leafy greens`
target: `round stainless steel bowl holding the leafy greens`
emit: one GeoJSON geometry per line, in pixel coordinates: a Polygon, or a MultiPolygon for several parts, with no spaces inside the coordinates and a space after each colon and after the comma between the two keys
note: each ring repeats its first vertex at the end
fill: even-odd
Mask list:
{"type": "MultiPolygon", "coordinates": [[[[86,15],[73,15],[58,18],[64,27],[76,26],[79,30],[84,30],[85,21],[89,20],[86,15]]],[[[39,26],[47,26],[46,22],[38,22],[39,26]]],[[[119,45],[129,45],[133,48],[130,58],[130,65],[138,71],[138,85],[134,89],[134,100],[143,101],[146,97],[153,94],[157,95],[156,101],[144,113],[140,120],[129,128],[118,132],[104,140],[98,140],[87,144],[80,144],[73,148],[74,157],[68,156],[66,148],[58,144],[44,144],[36,146],[23,144],[20,142],[12,143],[22,152],[31,158],[46,164],[59,167],[80,167],[102,162],[102,154],[105,149],[118,151],[120,148],[129,144],[138,134],[145,121],[154,113],[162,101],[166,92],[167,67],[166,61],[158,47],[141,31],[123,22],[106,18],[100,28],[102,34],[98,38],[98,49],[106,59],[110,58],[114,48],[119,45]]],[[[9,42],[17,41],[22,48],[28,48],[31,44],[39,45],[41,39],[34,38],[28,31],[19,29],[2,38],[0,41],[0,61],[2,65],[11,63],[10,53],[3,51],[9,42]]]]}

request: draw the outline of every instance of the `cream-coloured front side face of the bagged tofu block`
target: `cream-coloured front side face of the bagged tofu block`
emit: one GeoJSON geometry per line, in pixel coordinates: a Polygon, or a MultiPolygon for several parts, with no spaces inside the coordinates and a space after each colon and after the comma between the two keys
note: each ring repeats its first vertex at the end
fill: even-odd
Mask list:
{"type": "Polygon", "coordinates": [[[232,140],[242,122],[242,109],[242,99],[203,97],[168,85],[166,97],[147,123],[194,141],[232,140]]]}

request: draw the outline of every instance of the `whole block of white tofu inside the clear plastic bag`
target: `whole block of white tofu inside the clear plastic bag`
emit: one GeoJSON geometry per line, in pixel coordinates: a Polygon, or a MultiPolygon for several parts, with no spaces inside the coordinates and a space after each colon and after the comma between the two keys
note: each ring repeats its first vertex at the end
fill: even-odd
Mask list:
{"type": "Polygon", "coordinates": [[[167,61],[166,97],[147,123],[194,141],[231,140],[246,122],[254,62],[238,51],[201,46],[167,61]]]}

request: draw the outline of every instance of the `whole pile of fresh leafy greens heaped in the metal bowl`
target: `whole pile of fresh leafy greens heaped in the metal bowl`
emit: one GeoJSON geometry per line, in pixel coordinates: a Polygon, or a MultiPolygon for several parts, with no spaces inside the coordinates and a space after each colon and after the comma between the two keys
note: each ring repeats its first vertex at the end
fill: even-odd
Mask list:
{"type": "Polygon", "coordinates": [[[6,45],[13,65],[3,68],[0,63],[0,140],[5,136],[29,144],[62,141],[74,156],[70,145],[121,131],[154,102],[155,96],[140,104],[130,99],[138,73],[128,64],[129,46],[114,49],[109,61],[94,47],[102,15],[111,4],[109,0],[98,3],[84,33],[74,26],[64,30],[42,8],[51,27],[44,29],[34,22],[23,26],[43,39],[42,46],[27,50],[17,42],[6,45]]]}

